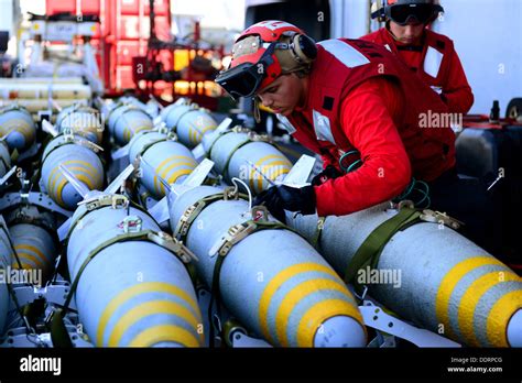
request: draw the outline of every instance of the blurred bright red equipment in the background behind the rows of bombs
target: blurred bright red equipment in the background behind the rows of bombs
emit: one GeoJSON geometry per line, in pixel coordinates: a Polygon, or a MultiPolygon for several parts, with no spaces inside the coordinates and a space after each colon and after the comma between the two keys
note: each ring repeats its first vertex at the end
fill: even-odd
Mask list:
{"type": "Polygon", "coordinates": [[[46,0],[46,14],[59,13],[99,18],[90,43],[106,97],[135,89],[140,96],[168,101],[187,96],[204,107],[217,106],[211,97],[216,89],[208,84],[217,70],[208,57],[217,55],[220,61],[224,48],[202,48],[197,22],[193,39],[177,43],[171,35],[170,0],[46,0]],[[183,68],[180,59],[174,65],[176,52],[186,53],[183,68]]]}

